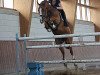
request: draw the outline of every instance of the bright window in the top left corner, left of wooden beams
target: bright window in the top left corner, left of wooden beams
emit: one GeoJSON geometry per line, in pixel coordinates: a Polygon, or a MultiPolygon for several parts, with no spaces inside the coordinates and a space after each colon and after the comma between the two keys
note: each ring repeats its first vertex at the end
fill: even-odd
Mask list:
{"type": "Polygon", "coordinates": [[[13,8],[13,0],[0,0],[0,7],[13,8]]]}

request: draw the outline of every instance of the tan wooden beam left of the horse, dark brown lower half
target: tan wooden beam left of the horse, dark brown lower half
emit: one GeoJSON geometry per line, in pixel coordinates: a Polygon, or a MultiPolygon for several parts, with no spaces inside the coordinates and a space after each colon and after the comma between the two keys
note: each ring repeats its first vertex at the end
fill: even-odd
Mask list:
{"type": "Polygon", "coordinates": [[[33,0],[14,0],[14,9],[19,11],[20,36],[29,36],[33,0]]]}

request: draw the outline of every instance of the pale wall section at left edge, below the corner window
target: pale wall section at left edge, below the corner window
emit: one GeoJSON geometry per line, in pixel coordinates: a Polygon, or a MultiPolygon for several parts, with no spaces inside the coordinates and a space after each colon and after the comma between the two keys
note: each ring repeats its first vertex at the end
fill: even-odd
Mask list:
{"type": "Polygon", "coordinates": [[[0,40],[15,40],[16,33],[20,33],[19,13],[0,8],[0,40]]]}

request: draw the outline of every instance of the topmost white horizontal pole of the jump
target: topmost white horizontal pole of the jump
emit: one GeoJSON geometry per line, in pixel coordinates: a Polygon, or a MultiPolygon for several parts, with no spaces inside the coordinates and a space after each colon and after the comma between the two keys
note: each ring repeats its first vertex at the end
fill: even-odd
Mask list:
{"type": "Polygon", "coordinates": [[[19,40],[40,40],[40,39],[55,39],[55,38],[66,38],[66,37],[85,37],[85,36],[97,36],[100,32],[85,33],[85,34],[64,34],[54,36],[41,36],[41,37],[19,37],[19,40]]]}

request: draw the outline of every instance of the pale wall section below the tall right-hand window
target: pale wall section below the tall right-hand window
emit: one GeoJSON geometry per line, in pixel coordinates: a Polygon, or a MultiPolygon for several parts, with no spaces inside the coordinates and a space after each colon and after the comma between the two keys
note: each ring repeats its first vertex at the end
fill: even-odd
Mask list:
{"type": "MultiPolygon", "coordinates": [[[[75,22],[75,28],[74,28],[75,34],[93,33],[95,32],[94,30],[95,30],[94,24],[92,22],[83,21],[83,20],[76,20],[75,22]]],[[[74,37],[73,41],[79,41],[79,38],[74,37]]],[[[95,36],[83,37],[83,41],[95,41],[95,36]]]]}

